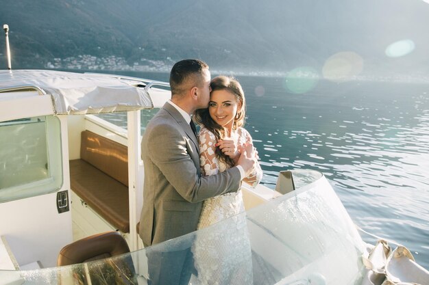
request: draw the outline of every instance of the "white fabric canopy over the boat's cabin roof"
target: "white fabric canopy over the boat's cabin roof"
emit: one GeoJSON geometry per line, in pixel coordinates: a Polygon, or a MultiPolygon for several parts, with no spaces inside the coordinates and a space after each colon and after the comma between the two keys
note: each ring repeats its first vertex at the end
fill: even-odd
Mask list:
{"type": "Polygon", "coordinates": [[[103,74],[0,70],[0,93],[34,90],[40,96],[51,96],[56,115],[151,109],[154,104],[145,86],[136,79],[103,74]]]}

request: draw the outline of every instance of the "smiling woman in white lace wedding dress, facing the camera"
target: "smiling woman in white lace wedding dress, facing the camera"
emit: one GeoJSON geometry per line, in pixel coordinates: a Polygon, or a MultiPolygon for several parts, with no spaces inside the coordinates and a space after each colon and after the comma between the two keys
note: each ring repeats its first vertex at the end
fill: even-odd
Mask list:
{"type": "MultiPolygon", "coordinates": [[[[208,109],[195,112],[194,120],[201,125],[199,150],[202,173],[206,176],[223,172],[236,164],[240,150],[252,143],[243,128],[245,96],[240,83],[233,77],[219,76],[210,83],[212,92],[208,109]]],[[[262,169],[255,157],[255,167],[244,182],[256,187],[262,169]]],[[[198,284],[253,284],[252,252],[247,234],[241,190],[204,201],[197,229],[230,219],[217,235],[197,236],[193,246],[198,284]]]]}

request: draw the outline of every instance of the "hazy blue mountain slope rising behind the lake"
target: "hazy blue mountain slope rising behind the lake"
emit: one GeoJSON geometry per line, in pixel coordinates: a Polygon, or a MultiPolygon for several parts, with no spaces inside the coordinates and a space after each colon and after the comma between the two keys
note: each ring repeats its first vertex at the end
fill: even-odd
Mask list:
{"type": "Polygon", "coordinates": [[[130,66],[197,57],[217,69],[285,72],[321,70],[350,51],[363,72],[427,74],[428,14],[423,0],[3,0],[0,21],[10,26],[13,68],[114,55],[130,66]],[[412,52],[387,57],[400,40],[412,52]]]}

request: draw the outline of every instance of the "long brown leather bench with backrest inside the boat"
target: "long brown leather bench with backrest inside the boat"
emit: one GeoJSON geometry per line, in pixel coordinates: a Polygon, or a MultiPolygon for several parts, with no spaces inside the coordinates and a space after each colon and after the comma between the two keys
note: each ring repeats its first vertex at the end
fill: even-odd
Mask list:
{"type": "Polygon", "coordinates": [[[80,157],[70,161],[71,189],[115,229],[130,232],[127,146],[83,131],[80,157]]]}

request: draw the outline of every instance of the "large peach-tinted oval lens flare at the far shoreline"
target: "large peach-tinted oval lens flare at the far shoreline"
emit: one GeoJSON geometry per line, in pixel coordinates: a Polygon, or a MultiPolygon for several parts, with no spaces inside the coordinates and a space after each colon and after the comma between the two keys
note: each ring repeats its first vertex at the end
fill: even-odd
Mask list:
{"type": "Polygon", "coordinates": [[[325,79],[335,82],[349,81],[363,70],[363,59],[352,51],[335,53],[328,59],[322,68],[325,79]]]}

